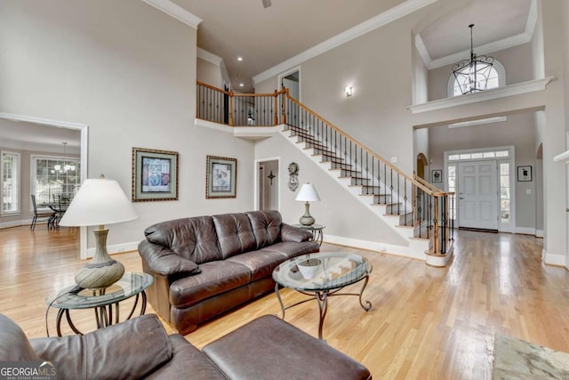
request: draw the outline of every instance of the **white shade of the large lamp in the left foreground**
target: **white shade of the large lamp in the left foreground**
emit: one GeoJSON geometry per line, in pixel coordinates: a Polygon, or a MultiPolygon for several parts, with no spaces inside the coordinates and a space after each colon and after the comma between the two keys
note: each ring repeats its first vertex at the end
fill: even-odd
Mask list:
{"type": "Polygon", "coordinates": [[[85,180],[60,220],[62,226],[95,226],[129,222],[139,216],[115,180],[85,180]]]}

